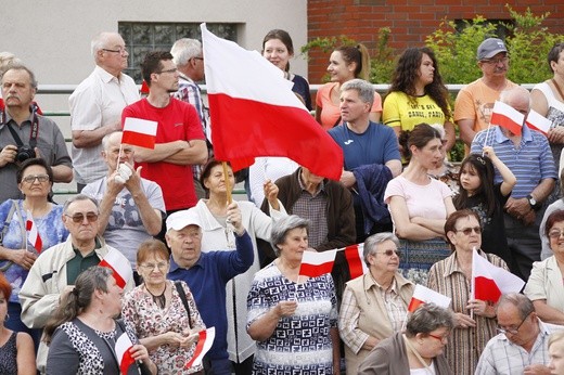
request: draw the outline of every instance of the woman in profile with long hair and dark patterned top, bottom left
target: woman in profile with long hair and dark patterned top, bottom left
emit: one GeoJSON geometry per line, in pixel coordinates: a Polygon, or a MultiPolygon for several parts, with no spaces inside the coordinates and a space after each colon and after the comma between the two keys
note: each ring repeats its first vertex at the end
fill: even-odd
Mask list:
{"type": "Polygon", "coordinates": [[[125,334],[133,344],[129,354],[134,361],[127,374],[156,374],[156,366],[144,346],[116,316],[121,311],[121,288],[112,270],[93,266],[80,273],[75,288],[62,298],[54,316],[44,328],[49,345],[47,374],[119,374],[121,357],[116,341],[125,334]]]}

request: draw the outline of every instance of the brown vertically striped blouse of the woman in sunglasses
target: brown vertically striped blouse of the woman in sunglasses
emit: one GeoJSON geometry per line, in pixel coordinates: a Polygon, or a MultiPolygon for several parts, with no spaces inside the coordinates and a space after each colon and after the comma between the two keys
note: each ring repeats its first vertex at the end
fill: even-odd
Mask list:
{"type": "MultiPolygon", "coordinates": [[[[491,264],[509,271],[500,257],[482,250],[478,250],[478,254],[491,264]]],[[[451,308],[454,313],[461,312],[470,315],[465,307],[471,296],[472,282],[462,273],[462,269],[457,262],[457,251],[431,268],[427,286],[452,298],[451,308]]],[[[476,321],[475,327],[454,328],[449,337],[445,357],[453,374],[473,375],[486,344],[497,335],[496,318],[474,314],[474,321],[476,321]]]]}

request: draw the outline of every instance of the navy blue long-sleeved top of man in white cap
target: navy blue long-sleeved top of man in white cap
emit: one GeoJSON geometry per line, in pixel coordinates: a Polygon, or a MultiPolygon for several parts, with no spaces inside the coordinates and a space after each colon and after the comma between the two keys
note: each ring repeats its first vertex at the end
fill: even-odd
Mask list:
{"type": "Polygon", "coordinates": [[[190,292],[206,323],[206,327],[216,327],[216,338],[207,358],[227,360],[227,310],[226,284],[253,264],[254,253],[251,237],[245,232],[235,235],[235,250],[201,253],[200,259],[190,269],[181,268],[170,257],[169,280],[182,280],[190,292]]]}

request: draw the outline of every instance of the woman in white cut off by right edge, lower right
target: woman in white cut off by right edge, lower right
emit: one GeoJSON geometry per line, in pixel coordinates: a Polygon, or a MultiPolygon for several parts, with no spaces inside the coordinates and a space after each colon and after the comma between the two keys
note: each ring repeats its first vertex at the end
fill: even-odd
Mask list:
{"type": "Polygon", "coordinates": [[[533,263],[524,293],[533,301],[537,315],[543,322],[563,325],[564,210],[550,214],[544,230],[554,255],[533,263]]]}

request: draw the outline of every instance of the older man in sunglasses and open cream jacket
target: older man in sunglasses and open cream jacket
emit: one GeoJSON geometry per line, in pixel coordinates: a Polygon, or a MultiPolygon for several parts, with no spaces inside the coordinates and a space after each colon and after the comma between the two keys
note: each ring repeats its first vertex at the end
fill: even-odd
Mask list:
{"type": "MultiPolygon", "coordinates": [[[[73,290],[80,272],[97,266],[110,250],[115,250],[98,236],[99,216],[97,202],[86,195],[78,194],[65,203],[62,220],[70,235],[66,242],[39,255],[20,292],[22,321],[28,327],[44,327],[61,297],[73,290]]],[[[117,256],[127,262],[127,258],[117,256]]],[[[132,287],[131,277],[125,289],[132,287]]],[[[44,342],[39,346],[37,358],[38,368],[42,371],[47,360],[44,342]]]]}

